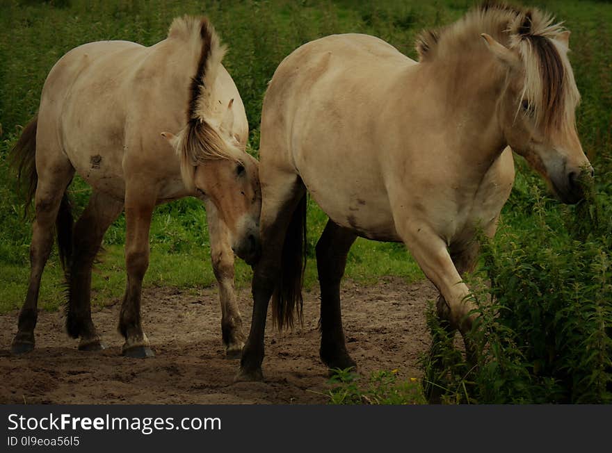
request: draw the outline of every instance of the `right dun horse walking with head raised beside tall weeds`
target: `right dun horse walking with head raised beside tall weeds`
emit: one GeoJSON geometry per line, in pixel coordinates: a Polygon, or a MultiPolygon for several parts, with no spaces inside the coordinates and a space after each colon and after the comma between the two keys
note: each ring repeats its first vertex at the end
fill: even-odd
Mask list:
{"type": "Polygon", "coordinates": [[[513,151],[564,203],[584,197],[581,172],[593,176],[575,126],[569,35],[538,9],[486,3],[421,33],[418,62],[343,34],[280,63],[262,107],[261,256],[236,380],[263,379],[271,297],[278,327],[301,318],[307,193],[329,217],[316,244],[325,365],[355,367],[339,286],[357,236],[403,242],[440,291],[437,315],[465,338],[477,316],[462,274],[476,263],[478,231],[494,235],[513,151]]]}

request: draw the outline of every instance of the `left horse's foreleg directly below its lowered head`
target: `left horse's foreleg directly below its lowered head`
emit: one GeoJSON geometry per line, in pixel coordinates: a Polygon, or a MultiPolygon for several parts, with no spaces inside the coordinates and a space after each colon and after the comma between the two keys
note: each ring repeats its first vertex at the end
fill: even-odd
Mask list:
{"type": "Polygon", "coordinates": [[[213,271],[221,302],[221,336],[227,357],[239,357],[244,345],[242,318],[234,293],[234,252],[230,231],[211,201],[206,203],[213,271]]]}

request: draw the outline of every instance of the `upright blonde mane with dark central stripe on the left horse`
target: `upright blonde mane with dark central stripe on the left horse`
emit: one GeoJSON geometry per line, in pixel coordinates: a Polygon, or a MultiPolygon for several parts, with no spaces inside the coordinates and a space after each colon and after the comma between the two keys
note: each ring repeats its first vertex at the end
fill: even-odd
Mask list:
{"type": "Polygon", "coordinates": [[[177,153],[181,156],[181,174],[187,188],[195,188],[198,165],[207,160],[239,161],[241,149],[223,135],[213,118],[213,88],[227,47],[220,43],[206,17],[177,17],[170,25],[168,38],[177,38],[199,51],[198,66],[191,80],[187,106],[187,126],[179,133],[177,153]]]}

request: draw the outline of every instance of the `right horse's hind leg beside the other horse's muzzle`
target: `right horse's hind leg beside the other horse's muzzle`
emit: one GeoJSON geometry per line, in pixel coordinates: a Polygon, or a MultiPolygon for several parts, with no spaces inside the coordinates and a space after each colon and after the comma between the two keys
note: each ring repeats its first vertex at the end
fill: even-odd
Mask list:
{"type": "Polygon", "coordinates": [[[269,184],[262,193],[261,258],[253,270],[253,313],[249,336],[243,347],[236,381],[261,381],[264,361],[264,333],[268,304],[280,275],[282,249],[293,211],[304,196],[305,188],[296,179],[279,175],[282,181],[269,184]]]}

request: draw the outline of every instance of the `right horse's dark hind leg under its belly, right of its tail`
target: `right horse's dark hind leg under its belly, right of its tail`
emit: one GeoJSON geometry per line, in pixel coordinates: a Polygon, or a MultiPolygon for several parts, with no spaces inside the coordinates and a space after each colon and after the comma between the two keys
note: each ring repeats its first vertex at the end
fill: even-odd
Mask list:
{"type": "Polygon", "coordinates": [[[316,267],[321,286],[321,349],[319,356],[328,368],[355,367],[346,352],[340,307],[340,281],[346,267],[346,256],[355,242],[353,231],[328,221],[316,243],[316,267]]]}

